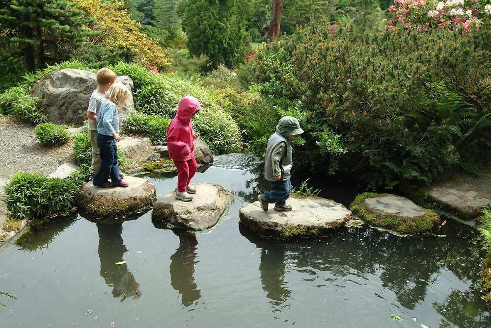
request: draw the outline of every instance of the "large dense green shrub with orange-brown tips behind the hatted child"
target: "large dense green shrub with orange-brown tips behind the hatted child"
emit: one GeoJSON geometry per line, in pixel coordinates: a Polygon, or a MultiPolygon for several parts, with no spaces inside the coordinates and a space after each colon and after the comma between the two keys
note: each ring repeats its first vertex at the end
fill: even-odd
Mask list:
{"type": "Polygon", "coordinates": [[[449,164],[489,158],[490,30],[316,26],[259,50],[239,78],[298,116],[300,166],[350,172],[372,188],[428,183],[449,164]]]}

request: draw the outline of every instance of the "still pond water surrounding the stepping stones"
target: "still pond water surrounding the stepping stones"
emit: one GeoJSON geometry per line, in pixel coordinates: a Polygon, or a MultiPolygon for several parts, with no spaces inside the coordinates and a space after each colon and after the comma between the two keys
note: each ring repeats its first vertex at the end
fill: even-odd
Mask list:
{"type": "MultiPolygon", "coordinates": [[[[0,295],[0,327],[491,327],[474,228],[449,221],[438,232],[446,238],[369,227],[259,237],[238,213],[267,188],[261,168],[227,167],[193,179],[235,196],[209,231],[165,229],[150,212],[110,226],[74,215],[4,248],[0,290],[17,300],[0,295]]],[[[147,178],[161,195],[176,185],[173,176],[147,178]]],[[[345,206],[362,191],[313,183],[345,206]]]]}

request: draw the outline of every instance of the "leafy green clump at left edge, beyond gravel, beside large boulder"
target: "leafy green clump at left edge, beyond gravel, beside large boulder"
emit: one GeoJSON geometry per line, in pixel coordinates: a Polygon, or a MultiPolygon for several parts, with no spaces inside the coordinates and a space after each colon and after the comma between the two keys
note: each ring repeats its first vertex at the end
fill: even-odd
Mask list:
{"type": "Polygon", "coordinates": [[[29,95],[27,86],[11,87],[0,94],[0,113],[32,124],[40,124],[46,122],[47,117],[38,109],[39,101],[39,98],[29,95]]]}

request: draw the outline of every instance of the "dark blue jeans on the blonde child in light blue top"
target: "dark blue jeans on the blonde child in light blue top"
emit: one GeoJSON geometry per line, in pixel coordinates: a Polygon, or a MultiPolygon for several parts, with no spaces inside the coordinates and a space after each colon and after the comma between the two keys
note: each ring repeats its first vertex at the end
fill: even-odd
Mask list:
{"type": "Polygon", "coordinates": [[[97,133],[97,147],[101,151],[101,166],[95,174],[94,185],[101,185],[111,178],[113,185],[121,182],[118,167],[118,147],[112,135],[97,133]]]}

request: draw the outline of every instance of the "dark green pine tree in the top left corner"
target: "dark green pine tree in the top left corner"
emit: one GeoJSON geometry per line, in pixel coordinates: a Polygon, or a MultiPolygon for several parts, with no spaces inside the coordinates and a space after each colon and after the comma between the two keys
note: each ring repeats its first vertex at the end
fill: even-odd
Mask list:
{"type": "Polygon", "coordinates": [[[92,19],[67,0],[0,1],[0,44],[12,57],[23,57],[33,72],[69,59],[90,31],[92,19]]]}

